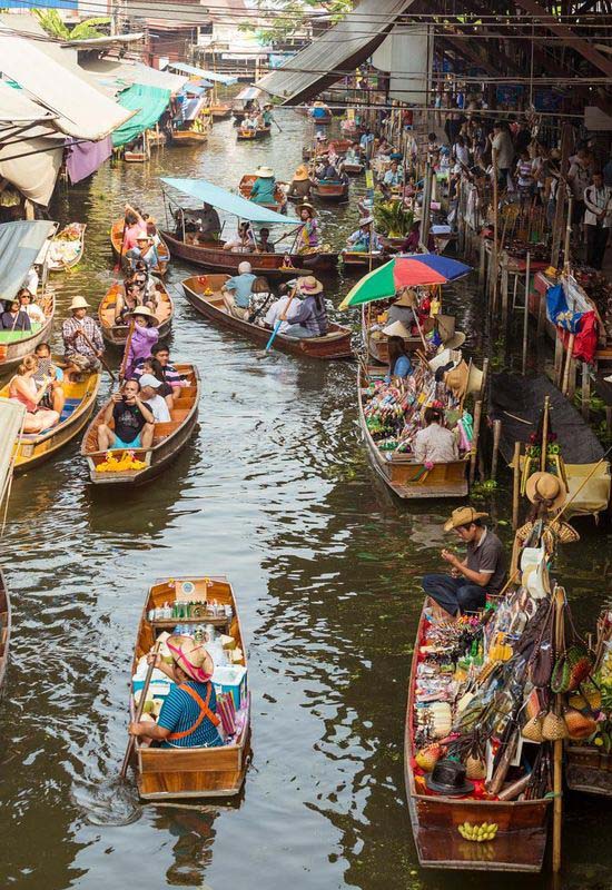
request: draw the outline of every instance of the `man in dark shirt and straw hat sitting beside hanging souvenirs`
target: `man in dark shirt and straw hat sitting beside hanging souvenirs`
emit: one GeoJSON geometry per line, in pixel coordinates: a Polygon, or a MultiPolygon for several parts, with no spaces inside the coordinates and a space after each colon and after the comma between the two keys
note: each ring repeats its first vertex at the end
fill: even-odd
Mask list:
{"type": "Polygon", "coordinates": [[[432,574],[423,577],[423,590],[451,615],[475,612],[486,604],[486,595],[499,594],[504,586],[504,547],[497,535],[483,525],[487,513],[473,507],[457,507],[444,524],[444,531],[455,531],[467,545],[464,560],[443,550],[442,558],[451,566],[451,575],[432,574]]]}

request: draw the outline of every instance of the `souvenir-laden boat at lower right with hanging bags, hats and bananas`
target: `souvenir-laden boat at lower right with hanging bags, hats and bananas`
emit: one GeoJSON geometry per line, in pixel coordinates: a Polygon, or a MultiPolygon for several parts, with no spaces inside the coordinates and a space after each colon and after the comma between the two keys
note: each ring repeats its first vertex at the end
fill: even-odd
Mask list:
{"type": "Polygon", "coordinates": [[[506,586],[474,614],[426,600],[411,671],[406,791],[422,866],[540,871],[554,809],[560,857],[563,740],[593,721],[575,706],[592,660],[550,576],[560,543],[563,479],[535,473],[506,586]]]}

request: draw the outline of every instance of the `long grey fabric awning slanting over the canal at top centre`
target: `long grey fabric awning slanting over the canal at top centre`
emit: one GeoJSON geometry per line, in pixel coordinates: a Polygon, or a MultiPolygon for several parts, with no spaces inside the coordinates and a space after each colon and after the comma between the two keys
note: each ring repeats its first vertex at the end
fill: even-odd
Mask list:
{"type": "Polygon", "coordinates": [[[352,75],[381,46],[395,20],[413,0],[362,0],[334,28],[325,31],[309,47],[257,86],[284,105],[308,101],[322,90],[352,75]]]}

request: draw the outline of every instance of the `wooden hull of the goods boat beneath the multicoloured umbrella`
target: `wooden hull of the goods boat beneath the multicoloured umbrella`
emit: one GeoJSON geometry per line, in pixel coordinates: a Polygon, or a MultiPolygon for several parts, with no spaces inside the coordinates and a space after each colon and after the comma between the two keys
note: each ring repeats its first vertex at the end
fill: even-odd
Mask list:
{"type": "MultiPolygon", "coordinates": [[[[371,368],[372,376],[382,377],[384,369],[371,368]]],[[[374,442],[366,423],[364,396],[369,380],[363,368],[359,370],[357,384],[357,402],[359,405],[359,423],[369,462],[375,473],[398,497],[409,501],[421,497],[465,497],[468,491],[465,461],[453,461],[448,464],[434,464],[427,469],[407,454],[384,452],[374,442]]]]}

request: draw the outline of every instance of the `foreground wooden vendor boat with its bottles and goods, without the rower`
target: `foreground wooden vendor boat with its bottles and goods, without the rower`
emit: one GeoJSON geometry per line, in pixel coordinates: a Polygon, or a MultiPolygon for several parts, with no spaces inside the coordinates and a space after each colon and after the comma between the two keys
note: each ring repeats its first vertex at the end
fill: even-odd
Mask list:
{"type": "MultiPolygon", "coordinates": [[[[226,733],[225,744],[218,748],[151,748],[137,741],[134,745],[132,763],[136,769],[138,793],[144,800],[184,800],[193,798],[226,798],[239,793],[250,761],[250,701],[246,688],[247,662],[245,640],[238,617],[236,597],[225,575],[209,577],[160,578],[150,587],[140,616],[132,675],[156,643],[160,634],[172,633],[184,627],[189,633],[194,617],[157,619],[156,612],[164,609],[182,615],[197,611],[207,626],[211,625],[231,659],[231,668],[216,666],[213,684],[217,694],[217,716],[226,733]],[[214,606],[213,606],[214,604],[214,606]],[[234,676],[241,676],[239,685],[231,684],[234,676]],[[226,681],[226,682],[224,682],[226,681]],[[236,701],[239,699],[239,701],[236,701]],[[239,706],[237,706],[239,705],[239,706]],[[229,724],[227,721],[229,720],[229,724]]],[[[164,639],[164,637],[162,637],[164,639]]],[[[167,637],[166,637],[167,639],[167,637]]],[[[168,689],[166,674],[159,672],[162,683],[154,682],[152,701],[168,689]],[[156,688],[157,686],[157,691],[156,688]],[[157,694],[156,694],[157,692],[157,694]]],[[[141,682],[141,681],[140,681],[141,682]]],[[[130,719],[136,713],[135,689],[130,693],[130,719]]],[[[154,711],[155,713],[155,711],[154,711]]]]}

